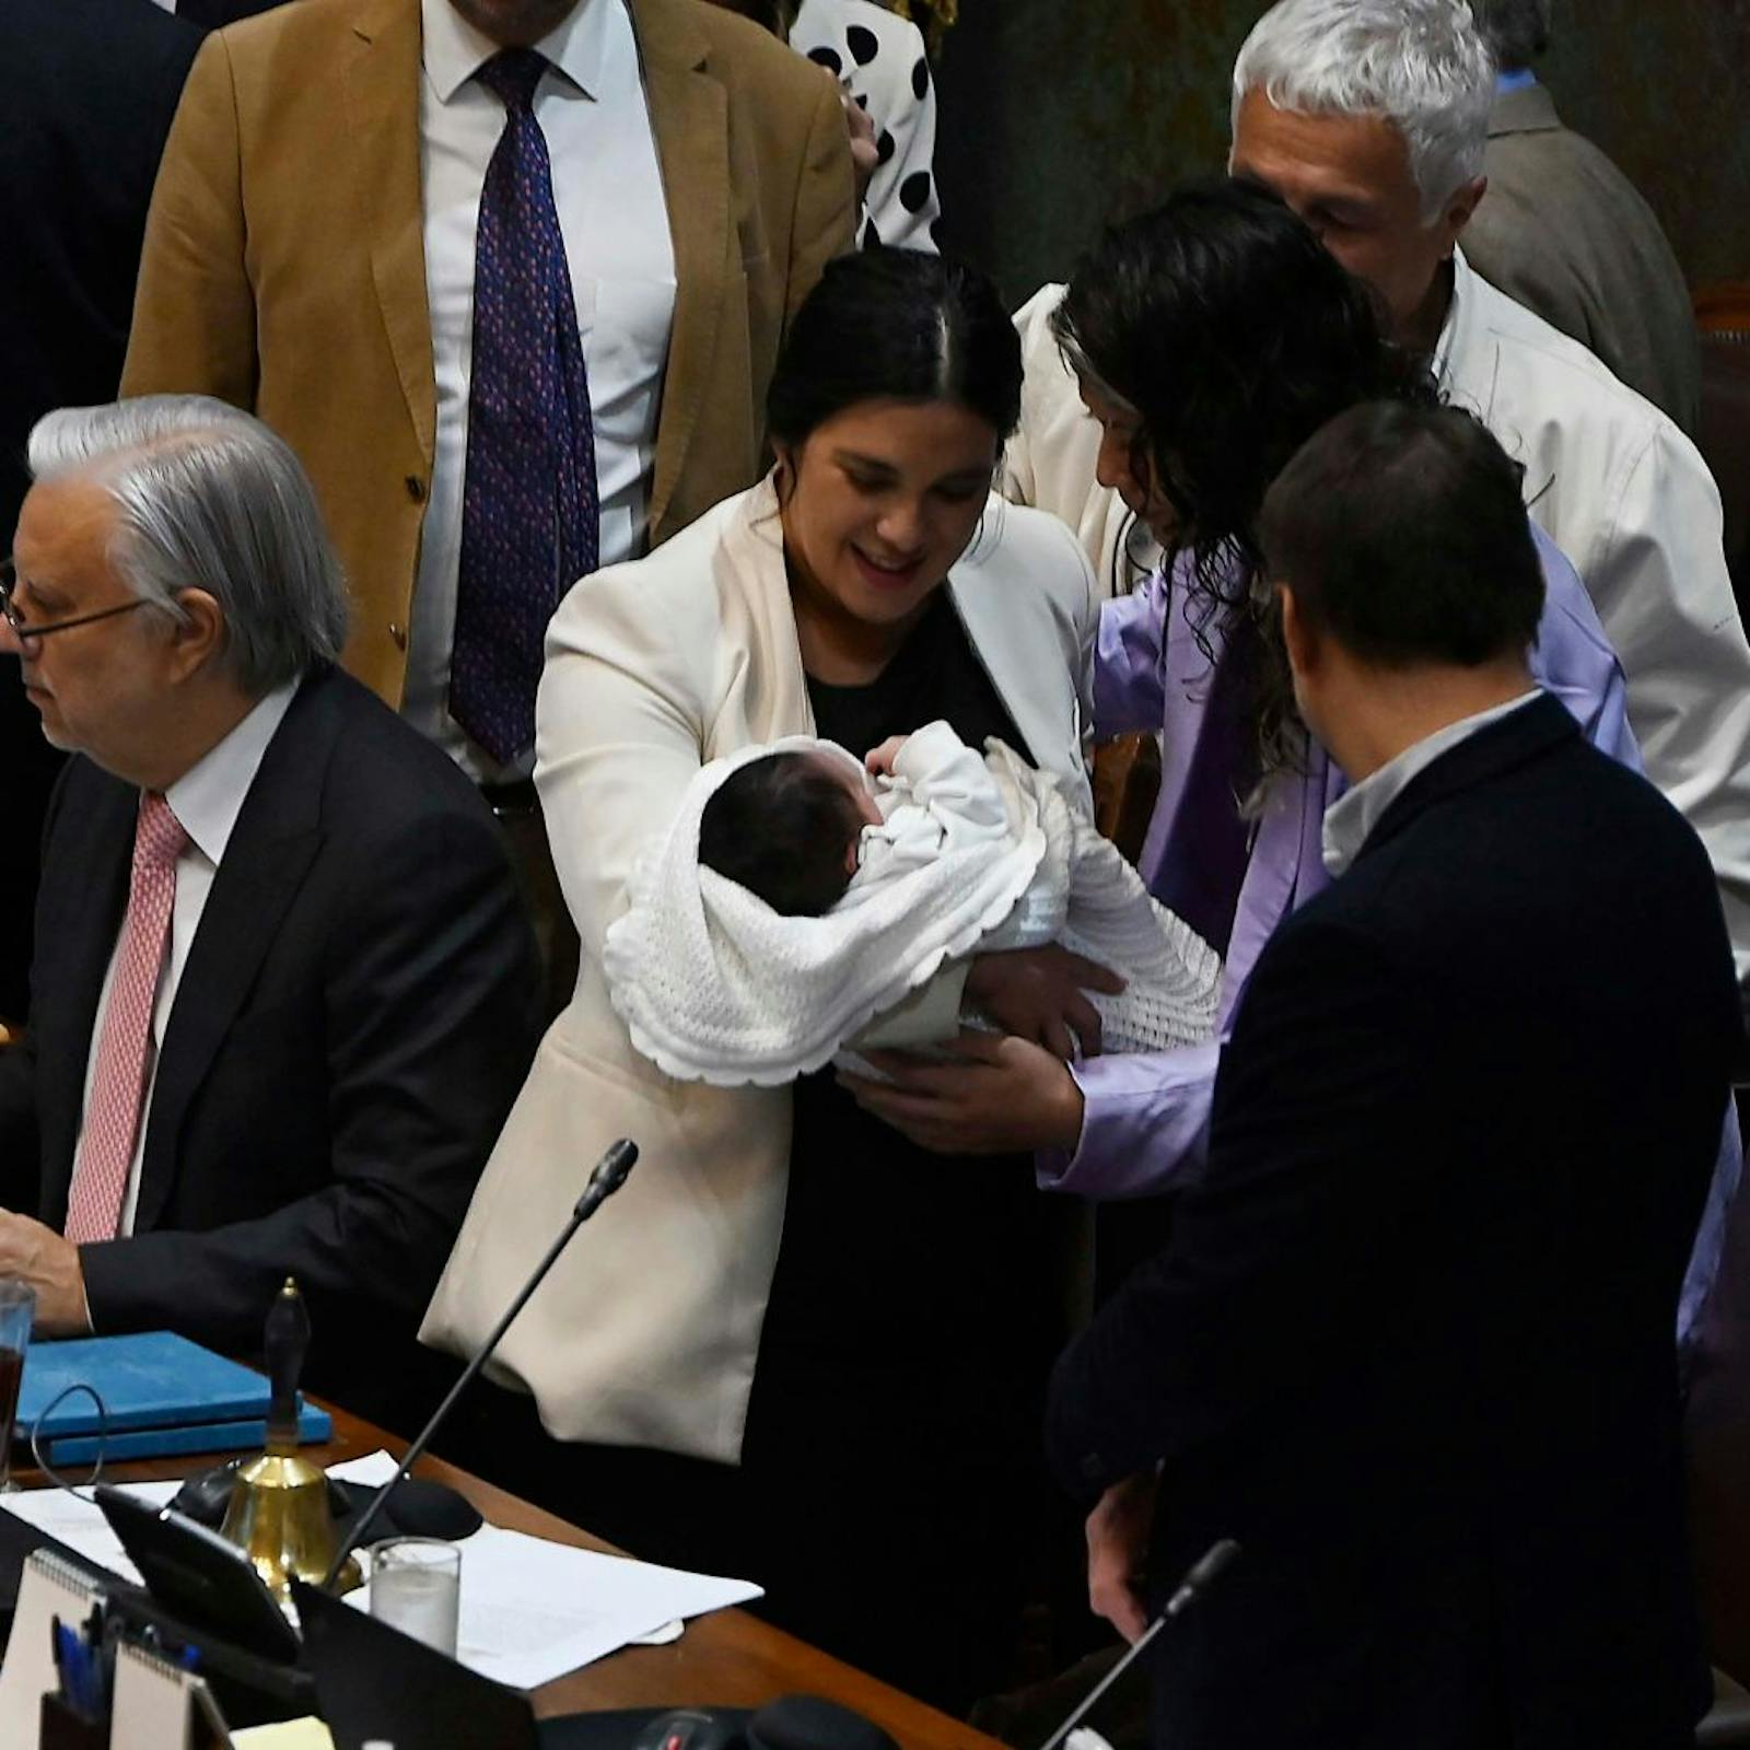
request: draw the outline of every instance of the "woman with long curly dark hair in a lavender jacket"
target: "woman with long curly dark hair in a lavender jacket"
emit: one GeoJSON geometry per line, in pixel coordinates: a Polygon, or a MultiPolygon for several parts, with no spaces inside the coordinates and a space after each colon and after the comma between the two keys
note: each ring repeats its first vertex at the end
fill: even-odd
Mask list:
{"type": "MultiPolygon", "coordinates": [[[[1162,735],[1141,868],[1225,961],[1222,1031],[1276,926],[1326,886],[1325,808],[1346,779],[1293,709],[1262,570],[1258,513],[1290,457],[1363,401],[1432,401],[1384,338],[1370,294],[1276,196],[1195,186],[1110,229],[1054,317],[1088,415],[1099,481],[1166,558],[1101,612],[1097,738],[1162,735]]],[[[1538,682],[1587,735],[1638,763],[1622,672],[1573,567],[1533,527],[1547,600],[1538,682]]],[[[957,1153],[1050,1150],[1041,1178],[1090,1197],[1171,1190],[1202,1155],[1220,1041],[1074,1064],[886,1060],[859,1099],[957,1153]]]]}

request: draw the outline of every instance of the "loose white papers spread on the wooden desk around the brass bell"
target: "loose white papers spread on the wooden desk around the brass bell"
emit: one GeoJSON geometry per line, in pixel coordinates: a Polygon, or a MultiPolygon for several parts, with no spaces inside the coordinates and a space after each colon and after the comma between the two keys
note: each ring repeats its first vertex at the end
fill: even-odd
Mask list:
{"type": "MultiPolygon", "coordinates": [[[[394,1463],[383,1452],[332,1468],[332,1475],[368,1486],[387,1480],[392,1472],[394,1463]]],[[[173,1482],[130,1489],[154,1505],[175,1491],[173,1482]]],[[[136,1578],[108,1521],[89,1502],[58,1489],[28,1489],[0,1496],[0,1507],[88,1559],[136,1578]]],[[[606,1659],[674,1619],[724,1610],[761,1594],[747,1580],[656,1568],[500,1526],[481,1526],[458,1547],[462,1614],[457,1657],[483,1676],[514,1689],[536,1689],[581,1664],[606,1659]]],[[[368,1608],[368,1589],[350,1596],[368,1608]]]]}

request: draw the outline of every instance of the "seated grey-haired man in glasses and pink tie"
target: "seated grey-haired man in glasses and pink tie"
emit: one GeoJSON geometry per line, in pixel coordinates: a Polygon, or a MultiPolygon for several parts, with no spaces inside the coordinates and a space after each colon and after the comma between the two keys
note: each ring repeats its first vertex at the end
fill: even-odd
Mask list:
{"type": "Polygon", "coordinates": [[[0,593],[49,807],[28,1040],[0,1054],[0,1276],[49,1335],[250,1351],[382,1405],[532,1052],[536,962],[472,786],[334,668],[290,450],[192,396],[74,408],[0,593]]]}

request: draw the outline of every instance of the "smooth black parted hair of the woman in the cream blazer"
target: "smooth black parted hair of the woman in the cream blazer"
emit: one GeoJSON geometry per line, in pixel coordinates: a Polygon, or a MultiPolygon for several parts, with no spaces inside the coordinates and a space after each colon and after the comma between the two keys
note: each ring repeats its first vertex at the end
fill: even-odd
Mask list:
{"type": "Polygon", "coordinates": [[[917,248],[826,264],[779,352],[766,430],[796,446],[884,397],[954,401],[1008,438],[1020,420],[1020,336],[985,275],[917,248]]]}

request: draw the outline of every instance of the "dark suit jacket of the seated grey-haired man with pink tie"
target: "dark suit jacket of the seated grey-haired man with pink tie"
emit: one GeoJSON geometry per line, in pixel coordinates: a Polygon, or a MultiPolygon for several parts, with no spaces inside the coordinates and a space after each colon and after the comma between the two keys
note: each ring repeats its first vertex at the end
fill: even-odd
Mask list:
{"type": "MultiPolygon", "coordinates": [[[[32,1040],[0,1055],[5,1202],[52,1227],[136,805],[133,786],[68,763],[46,836],[32,1040]]],[[[94,1328],[250,1353],[296,1276],[317,1332],[310,1377],[357,1402],[430,1298],[528,1068],[534,1003],[534,943],[474,788],[355,681],[306,677],[177,987],[135,1234],[80,1248],[94,1328]]]]}

